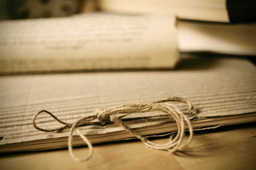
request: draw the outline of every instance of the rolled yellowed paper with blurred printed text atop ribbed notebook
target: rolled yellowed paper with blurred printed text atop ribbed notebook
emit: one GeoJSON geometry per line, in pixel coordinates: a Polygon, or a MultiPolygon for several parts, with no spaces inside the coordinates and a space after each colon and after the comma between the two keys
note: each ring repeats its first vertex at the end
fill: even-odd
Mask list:
{"type": "Polygon", "coordinates": [[[95,13],[0,21],[0,74],[173,68],[175,17],[95,13]]]}

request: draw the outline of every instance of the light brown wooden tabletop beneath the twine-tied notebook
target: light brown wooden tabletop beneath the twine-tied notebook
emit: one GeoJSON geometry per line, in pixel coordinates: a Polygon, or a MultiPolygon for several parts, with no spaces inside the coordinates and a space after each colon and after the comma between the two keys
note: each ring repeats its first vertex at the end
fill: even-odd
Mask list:
{"type": "MultiPolygon", "coordinates": [[[[88,148],[76,148],[75,153],[83,156],[88,148]]],[[[86,162],[74,161],[67,149],[1,154],[0,169],[256,169],[256,123],[196,131],[183,153],[130,140],[94,145],[94,155],[86,162]]]]}

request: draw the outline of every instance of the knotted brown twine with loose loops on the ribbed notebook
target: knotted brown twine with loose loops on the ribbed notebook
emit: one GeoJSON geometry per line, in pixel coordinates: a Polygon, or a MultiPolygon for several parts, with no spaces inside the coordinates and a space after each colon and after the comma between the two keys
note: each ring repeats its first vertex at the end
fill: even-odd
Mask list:
{"type": "MultiPolygon", "coordinates": [[[[93,148],[92,148],[92,144],[86,138],[86,136],[84,136],[78,130],[78,127],[79,126],[85,126],[85,125],[91,125],[92,123],[90,121],[92,121],[94,119],[98,119],[102,125],[106,125],[107,123],[111,123],[111,122],[113,122],[117,125],[120,125],[127,132],[129,132],[133,136],[140,139],[148,147],[151,147],[151,148],[154,148],[154,149],[157,149],[157,150],[166,150],[166,151],[170,151],[170,152],[175,152],[177,150],[182,149],[184,146],[188,145],[190,143],[191,139],[192,139],[192,136],[193,136],[193,128],[192,128],[191,123],[190,123],[190,121],[189,121],[189,119],[187,118],[186,115],[193,115],[193,106],[192,106],[191,102],[188,99],[182,98],[182,97],[170,97],[170,98],[167,98],[165,100],[156,101],[154,103],[130,103],[130,104],[122,104],[122,105],[114,106],[114,107],[111,107],[111,108],[108,108],[108,109],[107,108],[99,109],[99,110],[95,111],[95,114],[90,115],[90,116],[84,116],[84,117],[80,118],[79,120],[76,120],[74,123],[63,122],[63,121],[59,120],[57,117],[55,117],[51,112],[48,112],[46,110],[41,110],[34,117],[33,126],[37,130],[41,130],[41,131],[44,131],[44,132],[52,132],[52,131],[62,130],[62,129],[71,127],[70,132],[69,132],[69,136],[68,136],[68,151],[69,151],[71,157],[74,158],[75,160],[85,161],[85,160],[88,160],[92,157],[93,148]],[[183,113],[178,109],[178,107],[176,105],[168,103],[170,101],[178,101],[178,102],[186,103],[186,104],[188,104],[188,110],[185,113],[183,113]],[[168,142],[166,144],[153,143],[153,142],[149,141],[147,138],[145,138],[141,135],[138,135],[135,131],[133,131],[131,128],[129,128],[120,119],[121,117],[116,117],[116,115],[115,115],[115,114],[123,113],[124,115],[122,115],[122,117],[124,117],[125,115],[131,114],[131,113],[143,113],[143,112],[152,112],[152,111],[168,113],[176,121],[177,126],[178,126],[178,133],[175,137],[173,137],[173,135],[170,136],[170,138],[171,138],[170,142],[168,142]],[[36,117],[40,113],[43,113],[43,112],[48,113],[50,116],[52,116],[55,120],[57,120],[58,122],[60,122],[64,126],[59,127],[59,128],[46,128],[46,129],[37,127],[36,123],[35,123],[36,117]],[[183,137],[184,137],[184,134],[185,134],[184,121],[186,121],[187,124],[188,124],[188,130],[189,130],[190,135],[189,135],[188,141],[185,144],[181,144],[181,142],[183,140],[183,137]],[[77,134],[88,145],[89,155],[86,158],[78,158],[78,157],[75,156],[75,154],[73,152],[72,134],[73,134],[74,130],[76,130],[77,134]]],[[[155,117],[155,116],[152,116],[152,117],[155,117]]]]}

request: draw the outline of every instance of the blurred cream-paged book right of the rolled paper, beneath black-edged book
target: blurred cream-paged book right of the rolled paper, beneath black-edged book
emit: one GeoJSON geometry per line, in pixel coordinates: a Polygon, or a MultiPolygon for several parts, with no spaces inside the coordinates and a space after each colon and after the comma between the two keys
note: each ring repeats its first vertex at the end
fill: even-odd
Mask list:
{"type": "Polygon", "coordinates": [[[178,20],[182,52],[256,55],[256,24],[218,24],[178,20]]]}

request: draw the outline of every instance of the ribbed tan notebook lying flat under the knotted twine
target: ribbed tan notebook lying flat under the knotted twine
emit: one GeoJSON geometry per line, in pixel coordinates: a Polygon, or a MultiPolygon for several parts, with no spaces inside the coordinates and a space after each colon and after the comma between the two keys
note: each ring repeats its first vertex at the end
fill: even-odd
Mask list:
{"type": "MultiPolygon", "coordinates": [[[[32,126],[40,110],[65,122],[93,114],[99,107],[132,102],[154,102],[170,96],[187,97],[196,110],[194,129],[256,121],[256,68],[246,58],[187,57],[172,71],[123,71],[13,75],[0,77],[0,152],[65,148],[69,129],[41,132],[32,126]]],[[[181,110],[187,106],[175,103],[181,110]]],[[[177,130],[170,116],[141,117],[161,112],[135,113],[122,119],[140,135],[177,130]]],[[[95,120],[97,121],[97,120],[95,120]]],[[[61,126],[49,115],[39,115],[42,128],[61,126]]],[[[79,130],[92,143],[126,140],[133,136],[114,124],[79,130]]],[[[73,145],[84,145],[74,133],[73,145]]]]}

